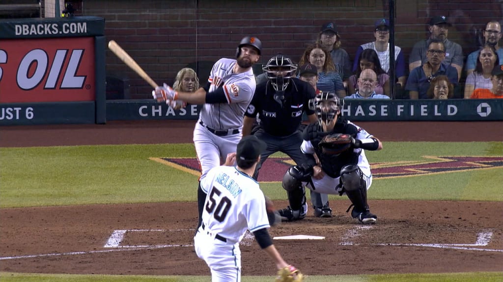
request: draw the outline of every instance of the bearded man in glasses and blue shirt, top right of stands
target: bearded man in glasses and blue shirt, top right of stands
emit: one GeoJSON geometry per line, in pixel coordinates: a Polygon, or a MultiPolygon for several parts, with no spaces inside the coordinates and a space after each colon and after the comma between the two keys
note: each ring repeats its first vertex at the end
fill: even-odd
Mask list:
{"type": "MultiPolygon", "coordinates": [[[[494,47],[494,50],[496,50],[496,54],[498,55],[499,58],[498,64],[503,64],[503,48],[499,47],[499,40],[501,39],[501,25],[499,24],[499,22],[498,21],[488,22],[487,25],[485,26],[483,34],[485,44],[491,45],[492,47],[494,47]]],[[[475,70],[479,61],[478,54],[481,50],[482,49],[479,49],[468,55],[468,58],[466,59],[466,73],[468,75],[475,70]]],[[[491,87],[489,87],[488,89],[490,88],[491,87]]],[[[466,95],[465,98],[467,98],[466,95]]]]}

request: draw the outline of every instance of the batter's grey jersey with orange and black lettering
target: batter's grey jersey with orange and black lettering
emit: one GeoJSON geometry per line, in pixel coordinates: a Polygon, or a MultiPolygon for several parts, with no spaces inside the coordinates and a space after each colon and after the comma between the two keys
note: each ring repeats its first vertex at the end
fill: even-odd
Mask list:
{"type": "Polygon", "coordinates": [[[255,93],[255,75],[253,69],[243,73],[232,73],[237,63],[234,59],[222,58],[211,69],[208,92],[223,87],[227,103],[204,104],[200,120],[213,129],[241,128],[244,111],[255,93]]]}

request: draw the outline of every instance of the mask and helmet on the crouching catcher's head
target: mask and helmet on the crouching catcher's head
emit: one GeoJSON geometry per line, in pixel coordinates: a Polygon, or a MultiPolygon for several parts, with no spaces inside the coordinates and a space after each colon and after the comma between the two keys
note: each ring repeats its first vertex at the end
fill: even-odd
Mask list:
{"type": "Polygon", "coordinates": [[[333,92],[320,92],[309,102],[309,108],[316,112],[320,124],[328,124],[341,109],[341,100],[333,92]]]}

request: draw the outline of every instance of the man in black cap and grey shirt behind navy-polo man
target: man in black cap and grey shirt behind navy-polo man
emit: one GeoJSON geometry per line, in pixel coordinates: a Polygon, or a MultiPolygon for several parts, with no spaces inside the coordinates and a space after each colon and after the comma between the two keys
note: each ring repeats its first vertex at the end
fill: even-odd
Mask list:
{"type": "Polygon", "coordinates": [[[458,71],[458,81],[461,77],[461,70],[463,69],[463,49],[461,45],[454,43],[447,39],[449,27],[452,25],[448,22],[447,17],[437,16],[433,17],[430,21],[428,30],[430,31],[430,38],[417,42],[412,48],[409,56],[409,71],[422,64],[426,63],[426,51],[433,39],[438,39],[444,42],[445,46],[445,59],[444,64],[451,65],[458,71]]]}

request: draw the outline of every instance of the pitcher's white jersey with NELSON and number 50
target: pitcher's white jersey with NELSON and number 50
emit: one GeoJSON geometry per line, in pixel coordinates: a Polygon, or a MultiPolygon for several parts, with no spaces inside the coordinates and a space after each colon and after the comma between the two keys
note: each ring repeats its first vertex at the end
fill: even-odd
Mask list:
{"type": "Polygon", "coordinates": [[[202,217],[206,232],[235,244],[247,229],[255,232],[270,227],[259,183],[236,167],[211,169],[201,181],[201,188],[208,191],[202,217]]]}

